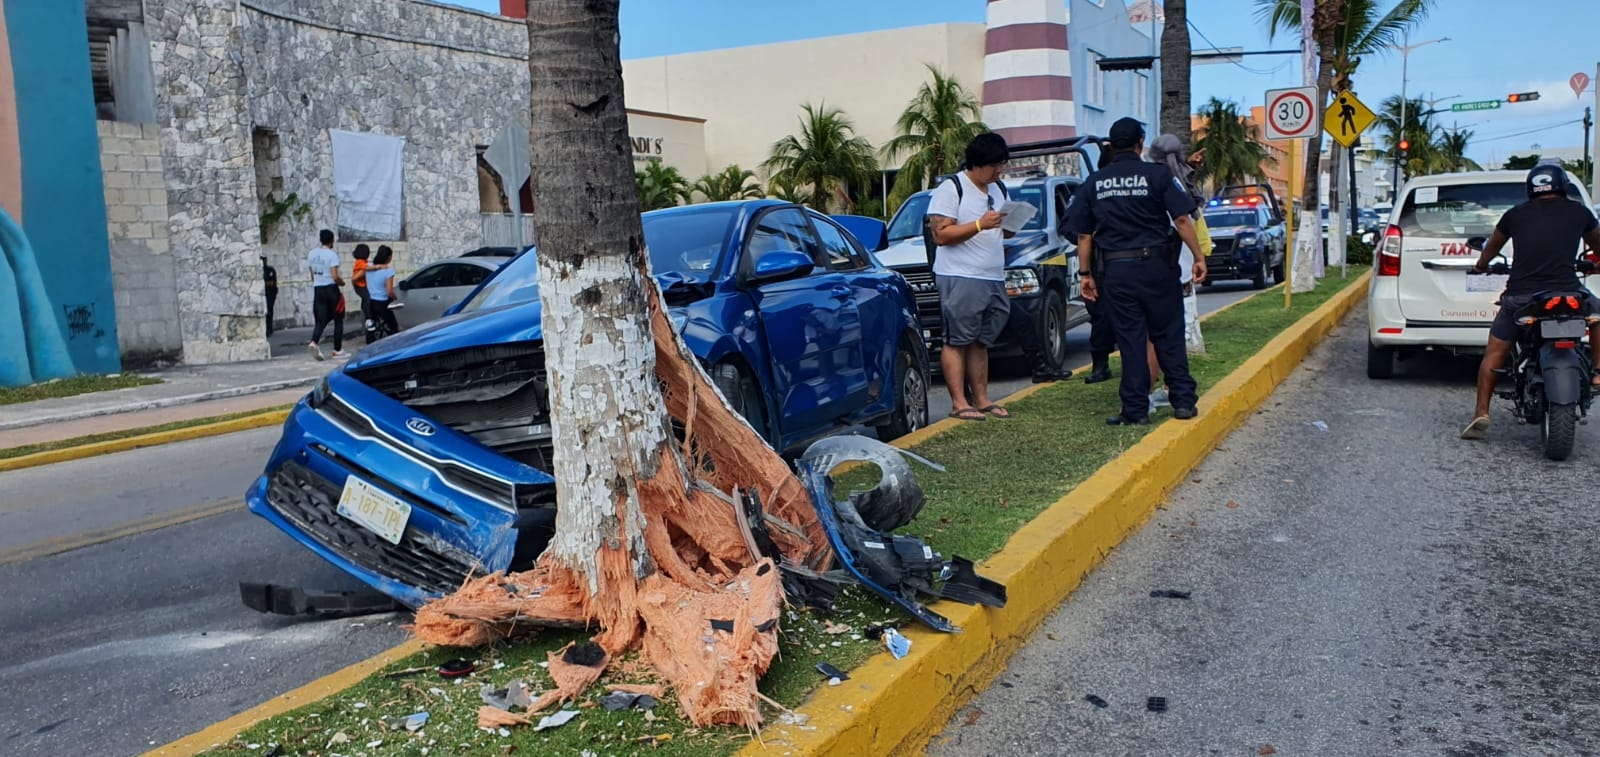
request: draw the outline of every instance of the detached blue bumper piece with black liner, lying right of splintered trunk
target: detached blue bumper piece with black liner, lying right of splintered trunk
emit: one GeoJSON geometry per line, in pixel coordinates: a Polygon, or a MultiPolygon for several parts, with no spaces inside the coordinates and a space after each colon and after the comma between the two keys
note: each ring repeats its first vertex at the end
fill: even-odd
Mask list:
{"type": "MultiPolygon", "coordinates": [[[[811,495],[818,519],[845,571],[874,594],[910,613],[934,631],[960,627],[917,600],[918,594],[966,605],[1005,607],[1005,586],[979,576],[971,560],[944,560],[926,543],[872,528],[858,511],[867,506],[874,522],[898,528],[922,511],[922,488],[906,464],[902,450],[866,437],[829,437],[811,445],[795,463],[800,483],[811,495]],[[853,491],[834,501],[829,475],[845,463],[878,466],[880,480],[872,491],[853,491]]],[[[933,466],[922,458],[915,458],[933,466]]],[[[938,466],[934,466],[938,467],[938,466]]]]}

